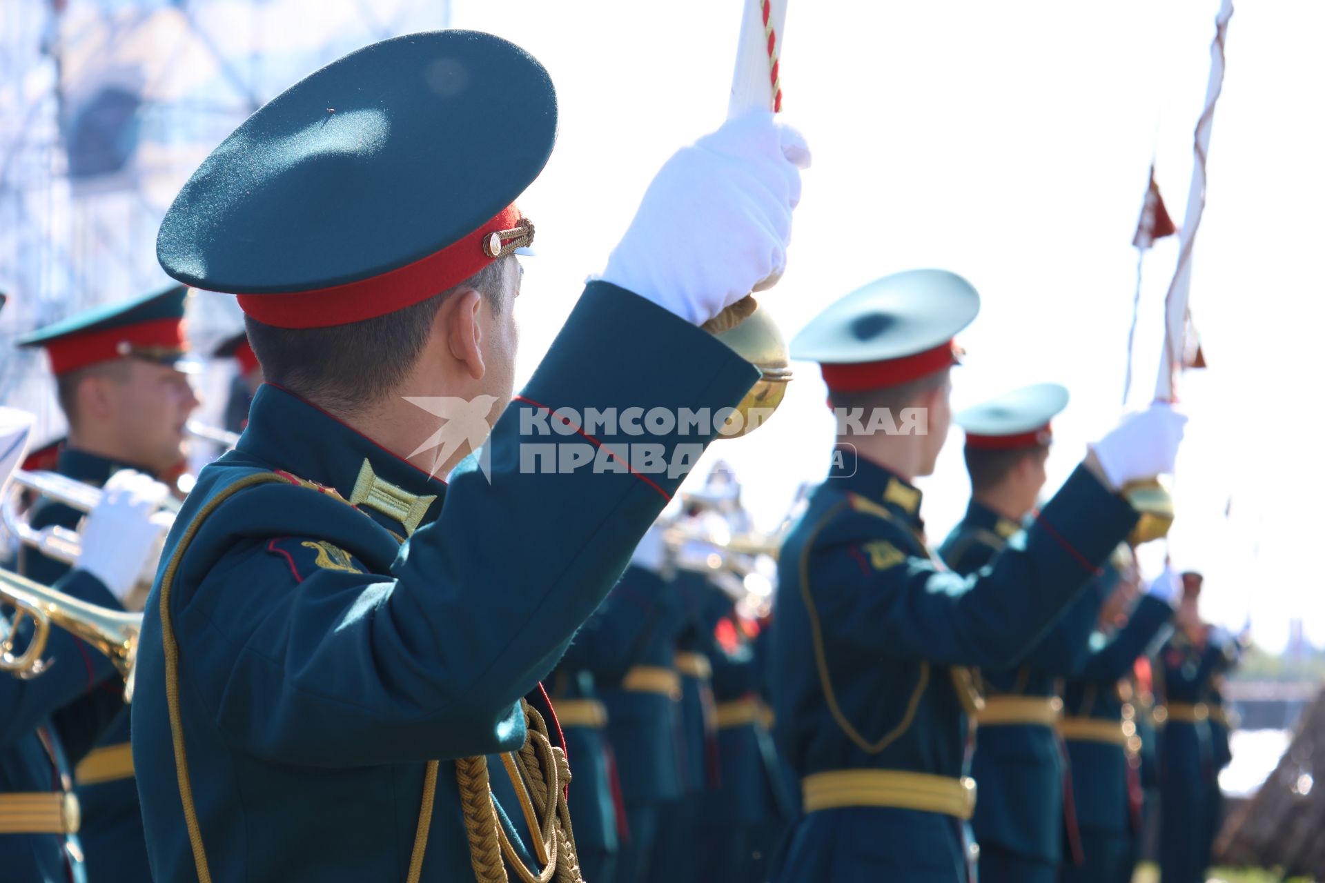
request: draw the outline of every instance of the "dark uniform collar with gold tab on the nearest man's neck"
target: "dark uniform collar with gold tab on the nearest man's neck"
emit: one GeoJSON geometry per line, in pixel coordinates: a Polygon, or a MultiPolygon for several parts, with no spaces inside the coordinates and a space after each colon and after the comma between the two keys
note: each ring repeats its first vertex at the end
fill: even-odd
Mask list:
{"type": "Polygon", "coordinates": [[[447,491],[441,479],[274,384],[258,388],[236,450],[334,488],[401,537],[437,518],[447,491]]]}

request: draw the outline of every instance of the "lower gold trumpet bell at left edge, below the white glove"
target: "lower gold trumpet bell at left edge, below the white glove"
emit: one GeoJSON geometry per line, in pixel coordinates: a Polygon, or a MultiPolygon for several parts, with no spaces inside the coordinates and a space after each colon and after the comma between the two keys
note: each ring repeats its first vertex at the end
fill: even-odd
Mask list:
{"type": "Polygon", "coordinates": [[[142,613],[125,613],[87,604],[3,569],[0,569],[0,602],[15,608],[8,631],[0,637],[0,671],[8,671],[25,680],[45,671],[50,663],[42,659],[42,653],[50,638],[50,626],[57,625],[109,657],[125,676],[125,702],[132,699],[142,613]],[[15,655],[15,638],[24,620],[32,620],[32,638],[23,653],[15,655]]]}

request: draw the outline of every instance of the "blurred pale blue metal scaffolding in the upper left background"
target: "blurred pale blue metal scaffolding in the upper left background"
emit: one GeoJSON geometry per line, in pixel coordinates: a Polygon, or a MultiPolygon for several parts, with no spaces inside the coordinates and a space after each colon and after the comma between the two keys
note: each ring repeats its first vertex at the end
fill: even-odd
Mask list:
{"type": "MultiPolygon", "coordinates": [[[[156,228],[248,114],[362,45],[448,26],[449,0],[0,3],[0,401],[62,428],[38,353],[15,336],[166,282],[156,228]]],[[[238,327],[199,297],[191,335],[238,327]]]]}

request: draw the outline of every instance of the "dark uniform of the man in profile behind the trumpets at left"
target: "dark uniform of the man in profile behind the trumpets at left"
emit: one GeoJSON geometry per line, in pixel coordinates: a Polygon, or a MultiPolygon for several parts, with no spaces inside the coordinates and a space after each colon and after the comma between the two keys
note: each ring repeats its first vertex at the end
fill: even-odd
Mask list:
{"type": "MultiPolygon", "coordinates": [[[[121,469],[147,471],[72,447],[65,447],[60,453],[57,466],[61,475],[95,487],[105,485],[106,479],[121,469]]],[[[32,526],[41,528],[58,524],[73,528],[82,519],[82,515],[64,503],[45,499],[37,504],[32,515],[32,526]]],[[[20,571],[28,579],[46,585],[69,572],[68,564],[40,555],[33,549],[25,548],[20,553],[19,561],[20,571]]],[[[114,597],[105,606],[114,610],[123,609],[114,597]]],[[[121,692],[123,682],[110,680],[105,688],[111,694],[121,692]]],[[[78,802],[82,808],[80,838],[87,855],[89,883],[150,879],[143,817],[138,806],[138,786],[134,782],[132,767],[127,764],[129,751],[129,708],[121,707],[115,720],[97,739],[89,756],[90,765],[94,763],[101,765],[101,774],[89,774],[91,767],[83,768],[85,778],[99,781],[78,782],[78,802]]]]}

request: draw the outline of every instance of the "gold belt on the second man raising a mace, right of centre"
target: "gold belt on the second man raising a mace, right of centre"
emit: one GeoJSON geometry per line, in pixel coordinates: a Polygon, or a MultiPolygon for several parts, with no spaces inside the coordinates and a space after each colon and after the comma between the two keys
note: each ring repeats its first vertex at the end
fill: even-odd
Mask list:
{"type": "Polygon", "coordinates": [[[892,806],[969,819],[975,780],[896,769],[835,769],[800,780],[807,813],[844,806],[892,806]]]}

